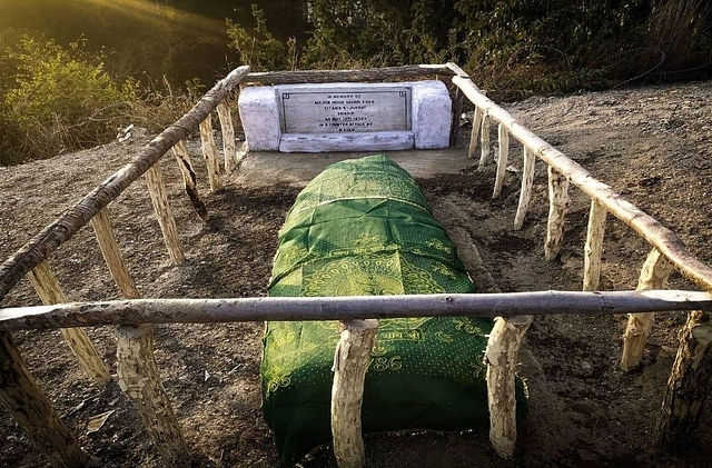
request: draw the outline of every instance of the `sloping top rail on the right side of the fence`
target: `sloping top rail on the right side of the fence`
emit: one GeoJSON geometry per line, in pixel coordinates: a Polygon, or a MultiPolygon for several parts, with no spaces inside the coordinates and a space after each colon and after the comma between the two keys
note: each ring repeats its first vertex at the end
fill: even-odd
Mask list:
{"type": "Polygon", "coordinates": [[[712,291],[712,268],[698,260],[672,230],[625,200],[610,186],[596,180],[582,166],[534,135],[510,112],[484,96],[472,80],[453,77],[453,82],[463,90],[472,103],[495,121],[504,125],[511,136],[533,151],[536,157],[564,175],[571,183],[578,187],[609,212],[641,235],[647,243],[660,250],[678,271],[701,288],[712,291]]]}

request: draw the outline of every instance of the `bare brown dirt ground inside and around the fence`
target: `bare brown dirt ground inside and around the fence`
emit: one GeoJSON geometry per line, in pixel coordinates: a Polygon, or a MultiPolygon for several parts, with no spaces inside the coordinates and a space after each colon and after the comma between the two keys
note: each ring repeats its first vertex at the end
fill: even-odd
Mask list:
{"type": "MultiPolygon", "coordinates": [[[[694,255],[712,262],[712,83],[535,97],[506,107],[600,180],[675,230],[694,255]]],[[[493,200],[494,167],[477,170],[476,161],[466,159],[468,131],[465,125],[456,150],[458,161],[453,162],[451,153],[435,165],[426,163],[427,159],[404,163],[414,169],[436,217],[457,233],[461,249],[471,241],[477,246],[502,290],[580,289],[587,198],[572,189],[562,253],[546,262],[546,168],[541,162],[537,166],[530,213],[524,228],[514,231],[521,146],[512,143],[512,170],[502,197],[493,200]],[[431,172],[433,166],[436,170],[431,172]]],[[[494,128],[492,136],[496,141],[494,128]]],[[[126,143],[0,168],[0,259],[127,162],[146,138],[137,132],[126,143]]],[[[186,251],[184,265],[174,266],[168,259],[142,181],[110,206],[119,245],[139,290],[144,297],[156,298],[264,296],[277,230],[304,185],[298,166],[304,157],[281,155],[283,166],[269,169],[258,156],[249,155],[244,170],[226,180],[222,191],[209,193],[199,143],[191,141],[189,149],[199,169],[208,222],[191,210],[175,162],[165,158],[161,163],[186,251]]],[[[325,163],[337,159],[318,158],[325,163]]],[[[617,220],[609,222],[604,247],[601,289],[634,289],[650,248],[617,220]]],[[[62,246],[51,265],[70,300],[118,298],[91,229],[81,230],[62,246]]],[[[486,275],[475,275],[475,281],[485,289],[493,287],[486,275]]],[[[676,275],[670,286],[692,288],[676,275]]],[[[0,307],[38,302],[23,281],[0,307]]],[[[407,431],[367,436],[368,466],[706,467],[712,456],[710,408],[705,408],[696,448],[669,455],[651,446],[683,320],[681,312],[659,315],[643,365],[624,374],[617,362],[625,317],[538,318],[522,354],[521,375],[528,382],[531,411],[513,460],[500,460],[483,432],[407,431]]],[[[155,329],[164,385],[196,467],[278,465],[259,408],[261,328],[261,323],[231,323],[155,329]]],[[[97,327],[88,333],[116,369],[113,328],[97,327]]],[[[58,331],[17,332],[13,337],[39,385],[97,466],[160,466],[117,384],[92,386],[58,331]],[[106,424],[88,434],[88,421],[111,410],[106,424]]],[[[0,466],[46,466],[3,409],[0,440],[0,466]]],[[[324,447],[303,466],[335,465],[324,447]]]]}

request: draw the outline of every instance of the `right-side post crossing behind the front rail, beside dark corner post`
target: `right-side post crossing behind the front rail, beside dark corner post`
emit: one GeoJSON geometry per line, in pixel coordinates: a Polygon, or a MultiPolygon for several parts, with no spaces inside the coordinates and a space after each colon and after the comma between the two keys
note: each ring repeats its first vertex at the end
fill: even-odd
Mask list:
{"type": "MultiPolygon", "coordinates": [[[[672,272],[672,265],[665,260],[657,249],[653,249],[643,263],[641,277],[637,280],[637,291],[650,289],[665,289],[668,278],[672,272]]],[[[623,335],[623,354],[621,369],[629,371],[636,367],[643,357],[643,347],[647,341],[653,325],[652,312],[629,313],[627,326],[623,335]]]]}

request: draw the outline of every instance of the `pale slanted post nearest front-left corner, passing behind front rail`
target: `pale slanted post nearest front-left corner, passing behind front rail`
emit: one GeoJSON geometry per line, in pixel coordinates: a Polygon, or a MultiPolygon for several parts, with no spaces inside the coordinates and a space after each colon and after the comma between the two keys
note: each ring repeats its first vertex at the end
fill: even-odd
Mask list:
{"type": "MultiPolygon", "coordinates": [[[[27,277],[46,306],[69,302],[47,260],[34,267],[27,277]]],[[[61,331],[65,341],[79,359],[85,372],[87,372],[87,377],[99,385],[109,384],[111,381],[109,369],[103,364],[86,331],[81,328],[62,328],[61,331]]]]}

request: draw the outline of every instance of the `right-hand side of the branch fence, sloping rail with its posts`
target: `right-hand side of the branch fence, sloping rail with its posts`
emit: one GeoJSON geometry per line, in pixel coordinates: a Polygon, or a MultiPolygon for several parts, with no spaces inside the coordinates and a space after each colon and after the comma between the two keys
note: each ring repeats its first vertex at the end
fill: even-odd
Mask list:
{"type": "MultiPolygon", "coordinates": [[[[520,205],[514,229],[521,229],[530,202],[534,157],[547,165],[550,211],[544,245],[545,258],[553,260],[561,249],[564,218],[568,205],[570,183],[577,187],[591,199],[586,243],[584,246],[583,290],[599,289],[601,256],[607,213],[612,213],[633,229],[652,250],[643,266],[637,290],[662,289],[671,269],[705,291],[712,291],[712,268],[698,260],[683,241],[660,221],[625,200],[610,186],[596,180],[589,171],[550,143],[520,123],[506,110],[488,99],[472,82],[469,77],[458,73],[453,83],[475,106],[468,157],[475,157],[477,139],[481,142],[479,167],[490,158],[491,120],[500,126],[500,158],[495,180],[494,197],[501,192],[508,155],[508,137],[517,140],[524,150],[524,171],[520,205]]],[[[686,309],[689,310],[689,309],[686,309]]],[[[643,346],[650,332],[653,310],[630,312],[623,337],[621,368],[625,371],[639,366],[643,346]]],[[[659,416],[656,440],[659,445],[671,446],[689,441],[700,422],[702,402],[712,391],[712,326],[710,316],[702,310],[691,310],[685,328],[681,332],[680,347],[668,382],[668,391],[659,416]],[[703,366],[703,364],[705,364],[703,366]],[[708,369],[710,368],[710,369],[708,369]]]]}

